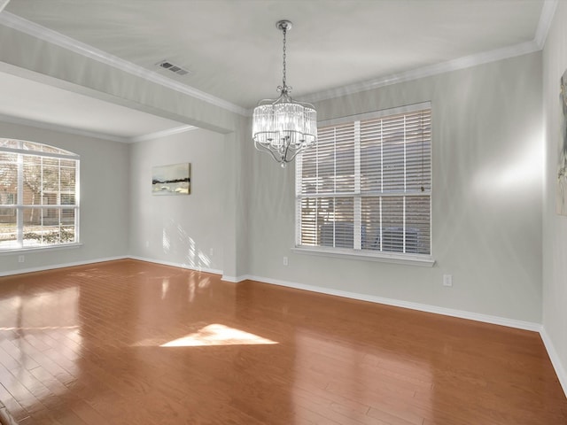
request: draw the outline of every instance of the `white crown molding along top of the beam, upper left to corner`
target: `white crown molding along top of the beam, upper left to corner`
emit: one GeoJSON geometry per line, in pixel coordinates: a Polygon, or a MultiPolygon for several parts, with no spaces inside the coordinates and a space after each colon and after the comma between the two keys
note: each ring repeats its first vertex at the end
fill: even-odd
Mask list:
{"type": "Polygon", "coordinates": [[[106,53],[103,50],[99,50],[93,46],[90,46],[89,44],[79,42],[71,37],[67,37],[66,35],[62,35],[56,31],[52,31],[49,28],[37,25],[27,19],[20,18],[13,13],[0,13],[0,24],[21,31],[22,33],[25,33],[27,35],[32,35],[43,40],[44,42],[56,44],[59,47],[62,47],[66,50],[71,50],[74,53],[82,55],[86,58],[91,58],[105,65],[113,66],[126,73],[131,73],[133,75],[136,75],[137,77],[144,78],[145,80],[154,82],[163,87],[167,87],[167,89],[173,89],[179,93],[183,93],[190,97],[195,97],[208,104],[214,104],[215,106],[219,106],[230,112],[235,112],[240,115],[246,116],[246,109],[238,106],[237,104],[232,104],[226,100],[221,99],[220,97],[214,97],[213,95],[209,95],[204,91],[195,89],[181,82],[171,80],[163,75],[160,75],[159,73],[154,73],[153,71],[150,71],[142,66],[137,66],[131,62],[128,62],[127,60],[118,58],[109,53],[106,53]]]}

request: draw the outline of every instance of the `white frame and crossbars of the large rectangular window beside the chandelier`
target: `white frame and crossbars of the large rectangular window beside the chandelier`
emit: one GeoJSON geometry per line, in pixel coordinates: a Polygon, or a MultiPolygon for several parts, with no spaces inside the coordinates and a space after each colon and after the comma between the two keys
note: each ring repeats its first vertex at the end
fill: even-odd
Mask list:
{"type": "MultiPolygon", "coordinates": [[[[311,255],[318,255],[324,257],[335,257],[335,258],[346,258],[346,259],[362,259],[362,260],[371,260],[371,261],[381,261],[381,262],[388,262],[388,263],[395,263],[395,264],[407,264],[413,266],[423,266],[423,267],[432,267],[435,264],[435,260],[432,258],[432,205],[431,199],[433,194],[432,188],[432,140],[433,137],[431,135],[430,138],[430,176],[431,180],[429,190],[424,190],[422,193],[414,194],[411,192],[405,193],[395,193],[395,195],[399,197],[411,197],[411,196],[422,196],[422,197],[429,197],[429,254],[424,253],[414,253],[414,252],[394,252],[394,251],[377,251],[377,250],[370,250],[370,249],[363,249],[361,245],[361,232],[363,228],[361,226],[361,202],[362,199],[365,197],[372,197],[373,195],[364,193],[361,191],[361,137],[360,137],[360,123],[361,121],[365,120],[379,120],[385,119],[390,116],[405,114],[405,113],[412,113],[418,112],[423,110],[429,110],[430,114],[432,115],[431,109],[431,102],[423,102],[419,104],[409,104],[404,105],[396,108],[389,108],[384,109],[376,112],[367,112],[361,114],[350,115],[346,117],[341,117],[338,119],[332,120],[323,120],[318,123],[318,127],[327,127],[327,126],[340,126],[346,124],[353,124],[354,126],[354,138],[353,138],[353,155],[354,159],[354,191],[345,192],[345,193],[317,193],[315,195],[311,194],[303,194],[302,193],[302,182],[303,182],[303,155],[299,155],[296,159],[296,174],[295,174],[295,182],[296,182],[296,197],[295,197],[295,246],[292,251],[297,253],[305,253],[311,255]],[[360,249],[357,248],[340,248],[340,247],[332,247],[332,246],[324,246],[322,244],[319,245],[304,245],[301,244],[302,238],[302,206],[301,200],[302,199],[312,199],[317,197],[350,197],[353,199],[354,205],[358,203],[358,206],[354,207],[353,210],[353,238],[354,243],[353,245],[356,246],[357,243],[360,245],[360,249]]],[[[431,133],[432,133],[432,128],[431,133]]],[[[405,139],[404,139],[405,140],[405,139]]],[[[335,166],[337,162],[335,161],[335,166]]],[[[317,165],[318,166],[318,165],[317,165]]],[[[404,177],[405,182],[405,177],[404,177]]],[[[380,194],[376,194],[379,197],[389,196],[392,194],[386,194],[382,191],[380,194]]],[[[406,213],[403,216],[407,216],[406,213]]],[[[319,231],[317,228],[316,231],[319,231]]],[[[407,236],[406,236],[407,237],[407,236]]]]}

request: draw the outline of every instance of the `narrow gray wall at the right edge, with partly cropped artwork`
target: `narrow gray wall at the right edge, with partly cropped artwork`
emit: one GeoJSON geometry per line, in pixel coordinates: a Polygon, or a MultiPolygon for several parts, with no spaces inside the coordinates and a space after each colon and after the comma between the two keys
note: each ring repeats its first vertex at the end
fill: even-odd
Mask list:
{"type": "Polygon", "coordinates": [[[567,3],[559,2],[543,51],[545,181],[543,203],[543,327],[567,394],[567,217],[555,214],[557,158],[562,136],[561,76],[567,69],[567,3]]]}

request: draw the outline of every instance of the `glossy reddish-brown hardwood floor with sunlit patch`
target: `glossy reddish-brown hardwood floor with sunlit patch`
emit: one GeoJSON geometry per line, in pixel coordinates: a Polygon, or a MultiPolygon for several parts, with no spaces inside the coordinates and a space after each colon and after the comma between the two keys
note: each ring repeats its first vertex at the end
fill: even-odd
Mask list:
{"type": "Polygon", "coordinates": [[[0,278],[28,424],[567,424],[540,336],[120,260],[0,278]]]}

